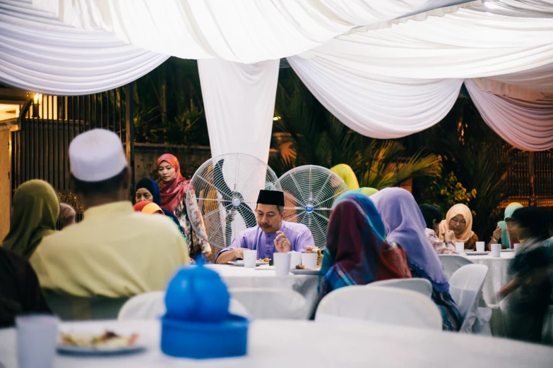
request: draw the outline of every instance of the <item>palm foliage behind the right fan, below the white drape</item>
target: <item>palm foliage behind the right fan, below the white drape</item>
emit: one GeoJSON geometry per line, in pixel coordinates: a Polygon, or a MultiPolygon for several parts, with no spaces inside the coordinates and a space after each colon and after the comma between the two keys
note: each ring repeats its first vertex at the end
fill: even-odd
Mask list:
{"type": "Polygon", "coordinates": [[[347,128],[295,75],[279,81],[275,114],[275,128],[288,133],[291,142],[290,154],[270,158],[269,164],[278,175],[305,164],[348,164],[359,185],[381,189],[440,173],[436,154],[418,150],[408,155],[399,140],[376,140],[347,128]]]}

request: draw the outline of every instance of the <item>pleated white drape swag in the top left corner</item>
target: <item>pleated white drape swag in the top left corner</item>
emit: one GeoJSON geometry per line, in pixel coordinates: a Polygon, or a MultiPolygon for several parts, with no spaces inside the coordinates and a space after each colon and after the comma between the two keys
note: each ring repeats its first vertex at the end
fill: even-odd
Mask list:
{"type": "Polygon", "coordinates": [[[126,85],[168,56],[108,32],[78,30],[30,1],[0,1],[0,80],[47,94],[92,94],[126,85]]]}

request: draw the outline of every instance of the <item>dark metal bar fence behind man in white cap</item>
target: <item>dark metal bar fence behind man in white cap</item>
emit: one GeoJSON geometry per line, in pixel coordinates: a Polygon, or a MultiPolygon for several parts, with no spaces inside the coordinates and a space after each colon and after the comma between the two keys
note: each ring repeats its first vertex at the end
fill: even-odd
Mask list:
{"type": "Polygon", "coordinates": [[[73,197],[69,143],[86,130],[104,128],[117,133],[126,146],[127,159],[133,163],[132,95],[132,85],[87,96],[35,94],[20,112],[19,129],[11,133],[12,196],[25,181],[42,179],[60,193],[62,200],[73,202],[66,197],[73,197]]]}

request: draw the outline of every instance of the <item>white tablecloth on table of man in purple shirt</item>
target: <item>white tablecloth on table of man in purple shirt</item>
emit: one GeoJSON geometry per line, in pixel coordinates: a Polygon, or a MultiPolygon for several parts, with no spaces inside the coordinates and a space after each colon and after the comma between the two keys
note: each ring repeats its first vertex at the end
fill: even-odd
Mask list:
{"type": "MultiPolygon", "coordinates": [[[[282,288],[294,290],[302,294],[309,305],[309,311],[314,312],[318,300],[316,275],[275,276],[273,270],[245,269],[242,266],[230,264],[208,264],[209,269],[217,271],[229,288],[282,288]]],[[[311,315],[311,313],[310,313],[311,315]]]]}

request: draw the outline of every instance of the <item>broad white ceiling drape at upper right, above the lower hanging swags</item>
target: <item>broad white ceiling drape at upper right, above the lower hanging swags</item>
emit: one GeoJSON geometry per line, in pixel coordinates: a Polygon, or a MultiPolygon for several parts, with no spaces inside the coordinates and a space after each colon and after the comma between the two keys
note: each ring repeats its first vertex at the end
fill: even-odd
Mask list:
{"type": "MultiPolygon", "coordinates": [[[[500,0],[494,6],[512,2],[500,0]]],[[[511,16],[471,6],[424,21],[391,23],[377,30],[358,28],[293,57],[323,59],[355,72],[396,78],[489,77],[551,63],[553,1],[517,2],[526,6],[511,10],[511,16]],[[549,4],[549,13],[540,3],[549,4]]]]}

